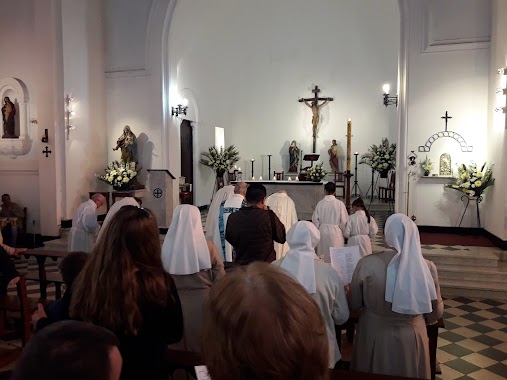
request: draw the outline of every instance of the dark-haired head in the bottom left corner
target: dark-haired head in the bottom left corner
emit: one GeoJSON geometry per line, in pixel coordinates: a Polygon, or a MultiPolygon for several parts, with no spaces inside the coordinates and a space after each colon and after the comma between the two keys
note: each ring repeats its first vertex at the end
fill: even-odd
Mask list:
{"type": "Polygon", "coordinates": [[[33,336],[11,379],[118,380],[118,343],[113,333],[91,323],[55,323],[33,336]]]}

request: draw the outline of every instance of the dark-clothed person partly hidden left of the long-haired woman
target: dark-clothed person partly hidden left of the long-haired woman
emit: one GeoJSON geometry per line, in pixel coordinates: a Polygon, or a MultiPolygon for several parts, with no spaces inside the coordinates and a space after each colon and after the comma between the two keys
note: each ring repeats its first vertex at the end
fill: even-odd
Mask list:
{"type": "Polygon", "coordinates": [[[71,252],[58,264],[58,269],[66,287],[65,293],[62,298],[50,302],[46,307],[40,303],[37,305],[37,311],[32,316],[32,322],[37,330],[41,330],[52,323],[69,319],[72,285],[85,266],[88,256],[86,252],[71,252]]]}

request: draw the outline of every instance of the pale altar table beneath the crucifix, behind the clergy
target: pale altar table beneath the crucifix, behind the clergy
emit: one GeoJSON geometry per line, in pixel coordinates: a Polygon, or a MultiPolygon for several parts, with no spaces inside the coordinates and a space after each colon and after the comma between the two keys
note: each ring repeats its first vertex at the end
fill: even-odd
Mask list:
{"type": "Polygon", "coordinates": [[[324,198],[323,182],[310,181],[244,181],[260,183],[266,187],[270,196],[279,190],[285,190],[296,204],[298,220],[312,220],[313,211],[317,203],[324,198]]]}

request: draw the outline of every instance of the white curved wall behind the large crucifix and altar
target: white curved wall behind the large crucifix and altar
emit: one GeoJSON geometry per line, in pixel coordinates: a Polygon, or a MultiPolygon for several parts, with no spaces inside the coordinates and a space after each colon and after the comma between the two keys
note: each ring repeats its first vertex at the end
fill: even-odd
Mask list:
{"type": "MultiPolygon", "coordinates": [[[[252,158],[256,176],[268,175],[267,154],[272,170],[287,171],[292,140],[310,152],[311,111],[297,100],[310,97],[314,85],[335,98],[322,109],[317,141],[326,167],[332,139],[346,150],[349,117],[353,152],[396,138],[396,110],[381,99],[384,81],[396,87],[396,1],[181,1],[168,46],[170,95],[191,91],[195,98],[186,118],[198,112],[197,153],[213,145],[214,127],[223,127],[248,176],[252,158]]],[[[171,124],[171,147],[179,141],[178,125],[171,124]]],[[[179,162],[173,152],[171,163],[179,162]]],[[[366,192],[371,172],[360,169],[366,192]]],[[[195,176],[196,203],[207,204],[213,173],[196,165],[195,176]]]]}

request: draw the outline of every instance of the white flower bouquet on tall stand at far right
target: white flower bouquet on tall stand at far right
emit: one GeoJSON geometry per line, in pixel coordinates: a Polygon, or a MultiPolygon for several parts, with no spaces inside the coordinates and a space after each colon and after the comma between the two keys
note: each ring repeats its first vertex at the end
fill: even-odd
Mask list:
{"type": "Polygon", "coordinates": [[[479,170],[477,164],[472,162],[468,166],[465,164],[459,165],[456,182],[446,187],[459,190],[471,197],[478,197],[494,182],[493,165],[488,168],[484,163],[479,170]]]}

